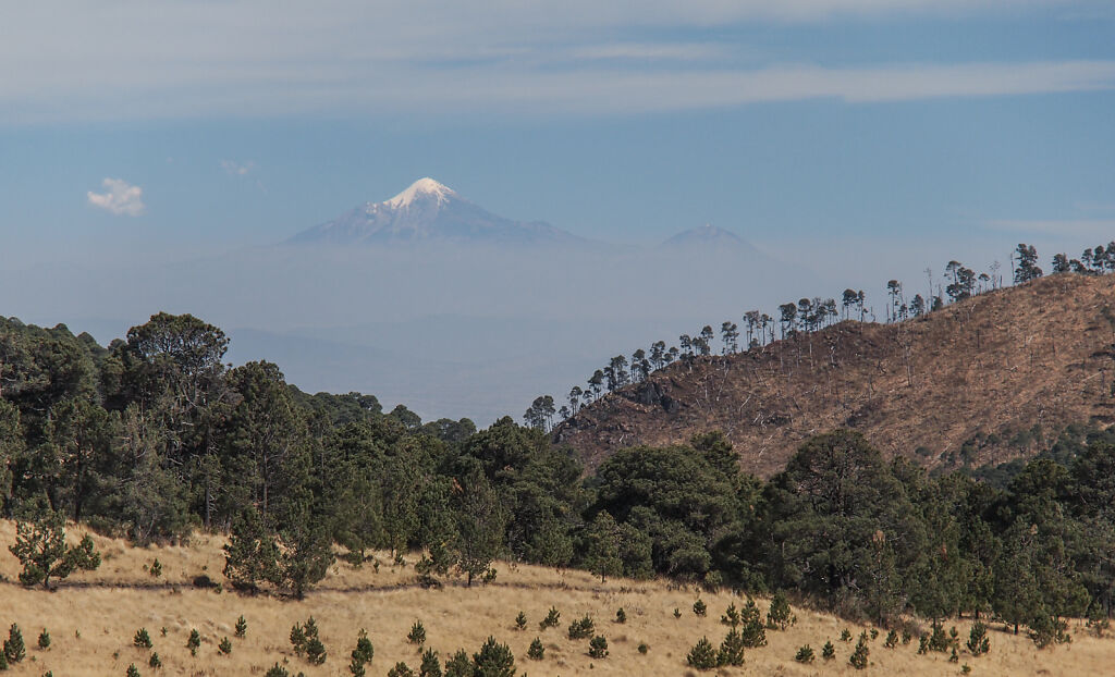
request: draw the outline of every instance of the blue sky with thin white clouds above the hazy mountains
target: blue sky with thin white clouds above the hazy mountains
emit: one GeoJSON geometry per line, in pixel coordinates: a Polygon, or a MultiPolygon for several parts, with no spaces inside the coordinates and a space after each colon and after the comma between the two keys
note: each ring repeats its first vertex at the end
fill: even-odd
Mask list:
{"type": "Polygon", "coordinates": [[[0,312],[126,327],[159,304],[114,307],[135,287],[188,308],[173,262],[421,176],[610,242],[711,223],[828,294],[1047,259],[1115,238],[1113,120],[1113,2],[9,2],[0,312]]]}

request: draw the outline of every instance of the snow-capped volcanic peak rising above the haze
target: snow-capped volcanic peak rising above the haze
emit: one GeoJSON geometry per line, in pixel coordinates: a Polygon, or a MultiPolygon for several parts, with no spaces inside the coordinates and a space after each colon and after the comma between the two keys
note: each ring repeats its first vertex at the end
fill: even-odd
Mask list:
{"type": "Polygon", "coordinates": [[[294,244],[539,245],[586,242],[542,221],[512,221],[473,204],[433,178],[419,178],[395,197],[368,202],[304,230],[294,244]]]}

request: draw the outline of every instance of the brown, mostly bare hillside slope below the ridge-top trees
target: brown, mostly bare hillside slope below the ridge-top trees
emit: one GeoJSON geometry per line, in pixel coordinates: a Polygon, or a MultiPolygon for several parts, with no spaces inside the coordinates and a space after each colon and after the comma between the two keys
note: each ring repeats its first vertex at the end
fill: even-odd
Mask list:
{"type": "Polygon", "coordinates": [[[811,435],[847,427],[885,454],[977,467],[1044,448],[1068,425],[1113,423],[1113,377],[1115,284],[1061,273],[903,322],[846,320],[681,359],[582,407],[554,438],[591,467],[719,429],[744,470],[770,476],[811,435]]]}

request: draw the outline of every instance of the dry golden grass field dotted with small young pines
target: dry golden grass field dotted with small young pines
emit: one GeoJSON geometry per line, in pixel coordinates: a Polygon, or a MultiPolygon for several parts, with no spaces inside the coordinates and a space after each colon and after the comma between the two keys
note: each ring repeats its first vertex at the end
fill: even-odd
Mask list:
{"type": "MultiPolygon", "coordinates": [[[[74,530],[71,536],[79,535],[74,530]]],[[[222,540],[196,536],[188,547],[129,548],[120,541],[95,536],[105,561],[96,572],[79,572],[58,590],[28,590],[16,580],[18,562],[8,554],[14,528],[0,522],[0,623],[18,622],[28,645],[28,659],[13,666],[9,675],[38,677],[52,670],[56,677],[124,675],[134,663],[143,675],[262,675],[274,663],[289,661],[291,674],[301,670],[308,677],[348,675],[349,654],[357,632],[366,628],[375,646],[369,675],[385,675],[396,661],[404,660],[417,671],[419,650],[407,644],[406,635],[415,620],[427,631],[427,648],[443,657],[465,648],[472,654],[493,635],[511,646],[520,673],[537,676],[573,675],[657,675],[697,674],[686,666],[686,654],[701,636],[719,644],[726,628],[720,613],[741,600],[727,592],[701,593],[708,617],[692,613],[694,590],[671,589],[665,581],[598,579],[579,571],[555,571],[541,567],[497,563],[497,580],[473,588],[450,583],[442,590],[414,586],[414,568],[385,563],[353,569],[336,564],[322,584],[307,599],[293,601],[269,596],[244,597],[233,592],[200,590],[190,584],[194,576],[220,576],[222,540]],[[154,579],[143,567],[158,558],[163,576],[154,579]],[[561,611],[561,626],[544,632],[537,622],[554,606],[561,611]],[[626,625],[613,621],[622,607],[626,625]],[[673,618],[673,609],[682,611],[673,618]],[[526,631],[514,628],[515,615],[524,611],[526,631]],[[248,637],[235,639],[233,626],[243,615],[248,637]],[[598,632],[608,638],[611,655],[593,660],[586,655],[588,641],[572,641],[566,628],[583,615],[593,617],[598,632]],[[321,628],[329,658],[323,666],[310,666],[294,656],[288,635],[294,622],[313,616],[321,628]],[[50,631],[48,650],[36,648],[42,628],[50,631]],[[147,628],[163,660],[161,671],[147,667],[148,651],[132,646],[135,631],[147,628]],[[166,628],[166,636],[161,632],[166,628]],[[196,657],[185,648],[192,628],[202,635],[196,657]],[[546,647],[545,659],[532,661],[526,649],[540,636],[546,647]],[[221,656],[216,645],[223,637],[233,641],[231,656],[221,656]],[[640,642],[650,650],[638,652],[640,642]]],[[[413,562],[413,558],[409,558],[413,562]]],[[[766,600],[759,600],[766,611],[766,600]]],[[[841,630],[859,636],[864,627],[832,616],[795,608],[797,625],[789,630],[768,631],[768,646],[749,649],[741,668],[721,669],[718,675],[860,675],[847,664],[852,644],[840,641],[841,630]],[[836,659],[821,659],[826,640],[836,645],[836,659]],[[797,648],[809,644],[817,658],[813,665],[794,661],[797,648]]],[[[952,625],[952,623],[949,623],[952,625]]],[[[954,623],[966,640],[969,622],[954,623]]],[[[973,658],[961,651],[960,664],[950,664],[943,654],[917,655],[917,639],[910,646],[883,647],[885,632],[871,642],[871,667],[875,675],[959,675],[968,664],[972,675],[1104,675],[1115,668],[1115,639],[1097,639],[1079,623],[1073,626],[1073,644],[1037,650],[1025,637],[1006,634],[996,627],[990,632],[991,652],[973,658]]],[[[708,673],[709,675],[714,673],[708,673]]]]}

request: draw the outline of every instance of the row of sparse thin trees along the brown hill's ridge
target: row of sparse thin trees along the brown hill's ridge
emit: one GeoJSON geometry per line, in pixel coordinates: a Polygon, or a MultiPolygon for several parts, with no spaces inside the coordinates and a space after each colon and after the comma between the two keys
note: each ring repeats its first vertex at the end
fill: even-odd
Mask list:
{"type": "MultiPolygon", "coordinates": [[[[1010,255],[1012,281],[1022,284],[1045,274],[1038,265],[1037,249],[1032,244],[1019,243],[1010,255]]],[[[1115,241],[1084,250],[1079,259],[1069,259],[1064,253],[1053,258],[1053,272],[1087,275],[1115,272],[1115,241]]],[[[899,280],[888,280],[886,303],[882,307],[886,323],[917,319],[948,304],[963,301],[1004,286],[999,273],[1001,264],[992,262],[987,272],[977,273],[960,261],[949,261],[940,281],[934,281],[932,269],[925,269],[927,296],[920,292],[909,298],[905,287],[899,280]]],[[[531,427],[551,431],[555,424],[565,422],[580,413],[581,408],[614,393],[624,386],[649,378],[651,374],[673,362],[691,365],[699,357],[728,356],[740,350],[763,348],[780,339],[801,333],[812,333],[843,320],[861,322],[878,321],[875,309],[867,304],[862,289],[845,289],[840,301],[833,298],[803,298],[778,306],[774,316],[759,310],[748,310],[743,315],[743,325],[725,320],[719,329],[706,325],[696,335],[683,333],[677,346],[667,346],[659,340],[647,349],[639,348],[630,357],[618,355],[607,366],[597,369],[586,379],[585,386],[573,386],[566,403],[559,405],[552,395],[536,397],[523,414],[523,420],[531,427]],[[719,336],[719,351],[717,351],[719,336]]]]}

